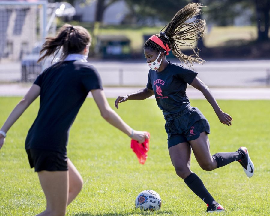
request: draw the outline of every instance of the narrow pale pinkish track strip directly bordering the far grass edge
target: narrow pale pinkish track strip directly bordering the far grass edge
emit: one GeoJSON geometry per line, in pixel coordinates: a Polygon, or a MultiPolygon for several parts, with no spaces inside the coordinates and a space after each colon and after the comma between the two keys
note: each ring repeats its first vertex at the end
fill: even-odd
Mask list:
{"type": "MultiPolygon", "coordinates": [[[[31,85],[26,84],[1,84],[0,96],[23,96],[29,90],[31,85]]],[[[116,98],[119,95],[125,95],[136,92],[140,87],[105,87],[104,91],[107,98],[116,98]]],[[[270,100],[270,88],[211,88],[216,99],[225,100],[270,100]]],[[[187,95],[190,99],[205,99],[202,93],[189,86],[187,95]]],[[[88,97],[91,97],[89,93],[88,97]]],[[[151,98],[154,98],[153,96],[151,98]]]]}

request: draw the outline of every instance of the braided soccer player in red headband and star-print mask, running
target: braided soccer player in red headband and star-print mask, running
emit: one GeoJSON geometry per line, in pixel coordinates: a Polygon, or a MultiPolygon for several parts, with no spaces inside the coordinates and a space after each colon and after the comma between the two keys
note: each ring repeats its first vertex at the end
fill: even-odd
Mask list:
{"type": "Polygon", "coordinates": [[[210,125],[198,108],[190,106],[186,95],[187,83],[203,93],[221,123],[232,125],[232,117],[220,109],[210,89],[196,77],[195,71],[166,59],[166,55],[172,50],[173,55],[186,65],[204,62],[198,55],[197,47],[193,49],[194,54],[190,56],[179,49],[179,45],[191,46],[204,33],[204,20],[186,22],[199,15],[201,7],[201,4],[188,4],[175,14],[160,34],[153,35],[146,41],[144,54],[150,67],[146,88],[119,96],[115,101],[115,107],[118,108],[119,103],[127,100],[144,100],[155,94],[158,107],[163,111],[166,120],[168,149],[176,174],[184,179],[187,186],[207,204],[207,212],[224,211],[205,188],[199,176],[190,170],[191,150],[200,167],[206,171],[239,161],[246,175],[252,177],[254,165],[246,147],[240,147],[236,152],[210,154],[208,140],[210,125]]]}

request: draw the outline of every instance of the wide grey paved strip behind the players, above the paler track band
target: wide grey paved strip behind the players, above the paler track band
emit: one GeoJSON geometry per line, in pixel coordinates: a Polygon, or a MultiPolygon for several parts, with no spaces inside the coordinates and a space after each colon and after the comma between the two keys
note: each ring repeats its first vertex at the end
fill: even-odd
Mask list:
{"type": "MultiPolygon", "coordinates": [[[[104,85],[145,86],[149,68],[145,60],[94,61],[104,85]]],[[[178,62],[173,59],[172,62],[178,62]]],[[[208,61],[194,64],[198,77],[209,87],[270,86],[270,60],[208,61]]],[[[0,82],[21,79],[20,63],[0,62],[0,82]]]]}

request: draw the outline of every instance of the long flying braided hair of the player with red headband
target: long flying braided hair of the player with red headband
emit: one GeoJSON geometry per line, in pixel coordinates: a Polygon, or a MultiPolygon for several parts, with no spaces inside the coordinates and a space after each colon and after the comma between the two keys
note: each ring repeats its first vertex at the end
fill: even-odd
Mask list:
{"type": "MultiPolygon", "coordinates": [[[[198,16],[201,12],[201,7],[202,5],[199,3],[187,4],[187,6],[183,7],[174,15],[169,24],[164,26],[164,32],[162,32],[162,29],[161,33],[156,35],[164,44],[168,44],[173,55],[179,58],[179,60],[184,62],[187,66],[192,66],[193,62],[200,64],[205,62],[198,55],[198,47],[191,45],[205,32],[205,20],[196,19],[190,23],[186,22],[188,19],[198,16]],[[185,55],[181,52],[179,46],[189,46],[194,54],[190,56],[185,55]],[[193,46],[194,49],[191,46],[193,46]]],[[[157,52],[165,51],[161,46],[149,39],[144,44],[144,48],[150,48],[157,52]]]]}

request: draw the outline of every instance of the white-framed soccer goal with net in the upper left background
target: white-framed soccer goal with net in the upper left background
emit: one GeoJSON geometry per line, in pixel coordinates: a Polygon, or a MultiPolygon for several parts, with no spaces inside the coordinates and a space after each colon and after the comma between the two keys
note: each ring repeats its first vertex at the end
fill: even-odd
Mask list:
{"type": "Polygon", "coordinates": [[[0,10],[2,10],[0,25],[4,26],[4,29],[0,30],[0,58],[8,57],[10,60],[19,61],[22,55],[21,52],[23,52],[24,49],[29,52],[35,47],[36,43],[43,44],[45,42],[47,35],[47,5],[47,0],[0,1],[0,10]],[[32,12],[32,10],[32,14],[35,14],[35,16],[29,15],[29,11],[32,12]],[[22,17],[24,16],[24,18],[18,20],[21,14],[18,15],[17,13],[23,14],[22,17]],[[26,17],[28,18],[26,19],[26,17]],[[35,17],[36,20],[31,20],[33,17],[35,17]],[[34,22],[35,24],[33,24],[34,22]],[[27,25],[27,23],[29,23],[29,25],[27,25]],[[19,30],[15,28],[17,26],[20,26],[19,30]],[[26,32],[27,28],[29,29],[29,33],[22,33],[26,32]],[[28,40],[27,48],[24,47],[25,44],[23,40],[28,40]],[[4,49],[8,50],[6,56],[4,49]]]}

